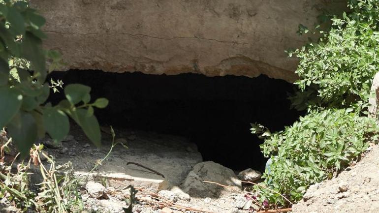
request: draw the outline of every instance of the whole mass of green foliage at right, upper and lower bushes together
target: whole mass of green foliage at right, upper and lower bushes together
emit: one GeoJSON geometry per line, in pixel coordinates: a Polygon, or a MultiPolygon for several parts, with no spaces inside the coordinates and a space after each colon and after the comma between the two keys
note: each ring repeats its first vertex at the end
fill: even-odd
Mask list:
{"type": "Polygon", "coordinates": [[[300,25],[299,34],[319,33],[320,38],[288,51],[300,60],[299,91],[289,99],[308,114],[276,133],[252,124],[252,133],[265,138],[261,149],[271,161],[261,183],[265,187],[255,190],[271,207],[288,206],[284,197],[300,200],[311,184],[332,178],[369,142],[377,143],[378,121],[363,116],[379,70],[379,0],[347,2],[349,11],[341,17],[323,16],[331,17],[329,30],[300,25]]]}

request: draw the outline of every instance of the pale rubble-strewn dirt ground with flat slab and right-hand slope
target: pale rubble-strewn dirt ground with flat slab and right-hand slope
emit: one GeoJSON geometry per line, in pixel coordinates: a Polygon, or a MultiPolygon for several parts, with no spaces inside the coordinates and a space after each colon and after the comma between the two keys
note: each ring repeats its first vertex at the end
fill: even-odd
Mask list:
{"type": "MultiPolygon", "coordinates": [[[[75,177],[84,180],[79,188],[83,213],[124,213],[125,199],[130,195],[128,184],[138,189],[140,202],[133,213],[253,213],[243,210],[248,202],[243,190],[219,187],[221,193],[209,197],[189,196],[183,191],[189,172],[202,161],[187,139],[126,129],[116,129],[116,134],[128,149],[117,145],[92,172],[96,161],[110,149],[110,135],[104,134],[103,146],[98,149],[73,128],[60,146],[45,149],[59,164],[71,161],[75,177]],[[128,165],[129,161],[154,168],[165,177],[128,165]]],[[[33,177],[36,183],[40,181],[33,177]]],[[[19,213],[14,208],[0,208],[2,211],[19,213]]],[[[379,213],[379,147],[370,147],[362,160],[338,177],[311,186],[304,199],[293,206],[293,213],[379,213]]]]}

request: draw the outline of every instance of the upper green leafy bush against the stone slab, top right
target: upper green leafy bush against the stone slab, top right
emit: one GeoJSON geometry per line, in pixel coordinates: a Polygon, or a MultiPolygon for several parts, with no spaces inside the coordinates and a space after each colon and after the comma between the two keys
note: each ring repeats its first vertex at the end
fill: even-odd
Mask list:
{"type": "Polygon", "coordinates": [[[289,52],[300,59],[295,84],[302,92],[291,98],[298,109],[367,107],[379,70],[379,1],[348,0],[348,7],[342,17],[332,17],[329,31],[319,31],[318,42],[289,52]],[[304,91],[312,98],[304,98],[304,91]]]}

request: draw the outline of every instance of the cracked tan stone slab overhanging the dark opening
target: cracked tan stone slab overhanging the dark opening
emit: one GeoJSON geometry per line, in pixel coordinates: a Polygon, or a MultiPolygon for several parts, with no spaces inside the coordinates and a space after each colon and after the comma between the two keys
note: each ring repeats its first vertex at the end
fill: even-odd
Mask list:
{"type": "Polygon", "coordinates": [[[47,23],[44,42],[67,69],[207,76],[265,74],[292,82],[299,24],[344,0],[31,0],[47,23]]]}

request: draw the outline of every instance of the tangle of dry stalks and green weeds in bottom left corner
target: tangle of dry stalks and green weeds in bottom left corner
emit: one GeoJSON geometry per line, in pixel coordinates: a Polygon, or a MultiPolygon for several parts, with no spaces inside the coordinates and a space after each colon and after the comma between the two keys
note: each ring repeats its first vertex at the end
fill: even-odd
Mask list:
{"type": "MultiPolygon", "coordinates": [[[[11,140],[11,139],[9,139],[11,140]]],[[[9,141],[1,144],[1,154],[9,141]]],[[[42,152],[43,146],[33,146],[27,163],[18,164],[14,172],[12,164],[0,162],[0,198],[6,198],[22,211],[38,213],[71,213],[83,210],[83,204],[78,191],[79,180],[72,174],[71,163],[56,166],[54,159],[42,152]],[[47,160],[47,168],[41,160],[47,160]],[[38,194],[33,192],[29,183],[30,168],[39,166],[42,182],[36,184],[38,194]]],[[[17,156],[16,156],[17,158],[17,156]]],[[[16,158],[14,160],[16,160],[16,158]]]]}

